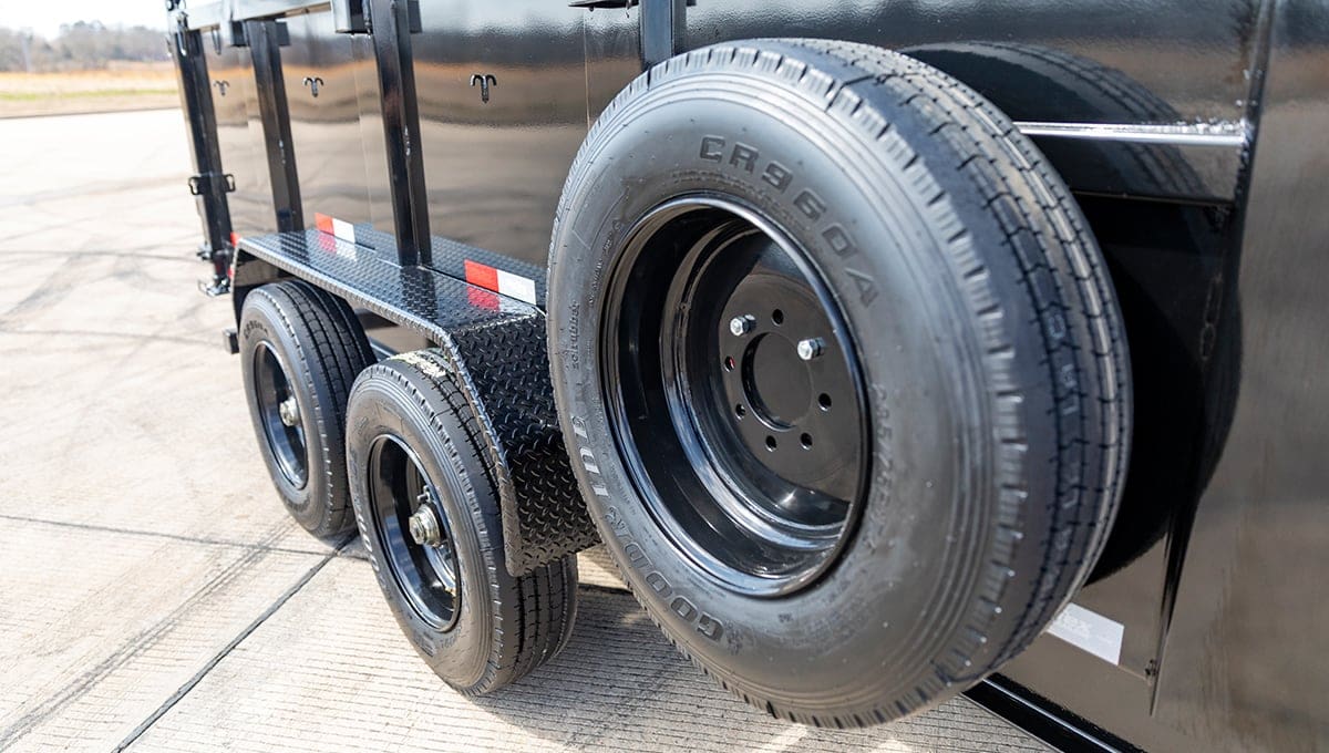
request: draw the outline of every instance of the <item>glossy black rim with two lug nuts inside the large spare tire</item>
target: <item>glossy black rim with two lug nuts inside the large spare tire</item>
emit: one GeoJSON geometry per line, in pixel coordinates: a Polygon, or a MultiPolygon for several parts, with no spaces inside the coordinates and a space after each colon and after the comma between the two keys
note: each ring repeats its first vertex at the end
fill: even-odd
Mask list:
{"type": "Polygon", "coordinates": [[[835,562],[867,400],[839,304],[776,224],[711,195],[647,212],[610,278],[601,363],[634,486],[683,555],[752,595],[835,562]]]}

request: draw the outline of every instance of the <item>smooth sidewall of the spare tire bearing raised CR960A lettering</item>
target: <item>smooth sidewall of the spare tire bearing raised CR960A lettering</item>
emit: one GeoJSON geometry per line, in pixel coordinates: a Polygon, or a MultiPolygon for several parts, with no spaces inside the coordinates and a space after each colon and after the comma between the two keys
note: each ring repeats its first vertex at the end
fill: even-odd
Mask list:
{"type": "Polygon", "coordinates": [[[549,295],[552,327],[563,328],[552,332],[563,433],[606,544],[651,615],[731,685],[804,709],[855,695],[870,705],[884,692],[912,691],[960,627],[958,616],[938,612],[956,610],[969,592],[956,559],[986,547],[954,537],[986,527],[975,515],[987,473],[981,462],[960,463],[962,453],[933,452],[977,445],[981,422],[964,417],[983,405],[965,369],[946,367],[975,363],[978,347],[953,325],[962,303],[949,271],[920,263],[942,250],[917,191],[873,173],[874,159],[829,149],[853,139],[828,130],[812,102],[768,78],[754,78],[752,88],[672,81],[611,121],[597,129],[615,137],[593,138],[591,154],[581,157],[611,166],[565,191],[549,295]],[[683,97],[703,98],[704,108],[666,106],[683,97]],[[751,171],[736,146],[758,153],[751,171]],[[768,179],[772,161],[792,173],[784,189],[768,179]],[[735,594],[687,562],[638,495],[610,430],[598,377],[610,270],[638,218],[692,193],[751,207],[804,250],[840,305],[864,372],[872,436],[861,518],[839,562],[788,596],[735,594]],[[821,207],[817,216],[809,206],[821,207]],[[843,238],[832,228],[855,251],[832,243],[843,238]],[[934,635],[918,629],[920,615],[940,618],[925,626],[934,635]],[[861,672],[865,665],[881,671],[861,672]],[[730,676],[719,667],[740,671],[730,676]],[[803,697],[781,688],[789,673],[800,676],[803,697]]]}

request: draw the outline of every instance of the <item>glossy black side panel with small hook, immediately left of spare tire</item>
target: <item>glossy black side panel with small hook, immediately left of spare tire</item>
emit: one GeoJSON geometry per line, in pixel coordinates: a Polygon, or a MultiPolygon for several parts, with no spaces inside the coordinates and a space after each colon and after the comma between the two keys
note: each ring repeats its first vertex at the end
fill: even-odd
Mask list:
{"type": "Polygon", "coordinates": [[[435,236],[544,266],[586,137],[586,13],[552,0],[420,3],[411,45],[435,236]]]}

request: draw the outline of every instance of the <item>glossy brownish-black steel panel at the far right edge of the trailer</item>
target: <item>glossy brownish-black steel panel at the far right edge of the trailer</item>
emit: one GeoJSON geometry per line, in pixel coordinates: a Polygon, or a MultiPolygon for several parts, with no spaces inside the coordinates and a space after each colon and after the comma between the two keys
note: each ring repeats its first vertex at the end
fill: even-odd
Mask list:
{"type": "Polygon", "coordinates": [[[1209,392],[1211,475],[1158,718],[1211,750],[1329,750],[1329,8],[1280,4],[1209,392]]]}

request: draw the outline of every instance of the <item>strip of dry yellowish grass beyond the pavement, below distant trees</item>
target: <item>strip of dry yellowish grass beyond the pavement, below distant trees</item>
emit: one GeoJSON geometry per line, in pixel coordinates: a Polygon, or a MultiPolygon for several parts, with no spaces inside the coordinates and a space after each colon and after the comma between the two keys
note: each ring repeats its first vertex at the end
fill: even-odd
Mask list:
{"type": "Polygon", "coordinates": [[[0,73],[0,118],[179,105],[173,64],[66,73],[0,73]]]}

